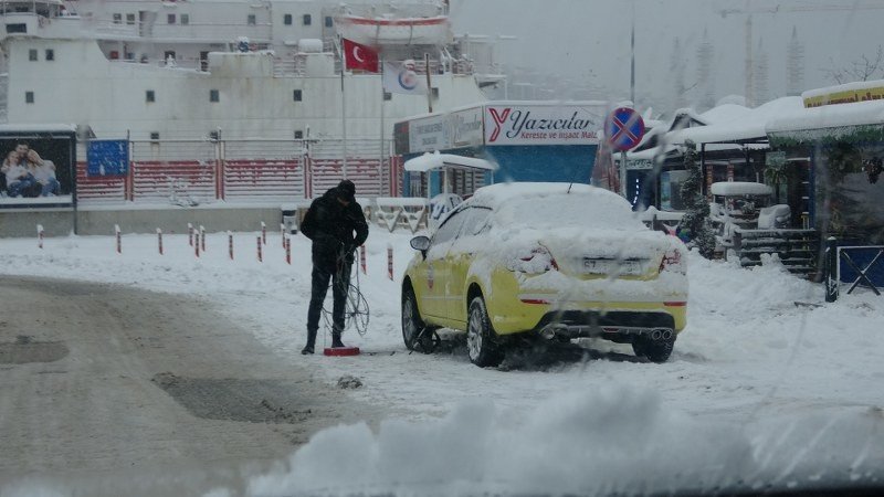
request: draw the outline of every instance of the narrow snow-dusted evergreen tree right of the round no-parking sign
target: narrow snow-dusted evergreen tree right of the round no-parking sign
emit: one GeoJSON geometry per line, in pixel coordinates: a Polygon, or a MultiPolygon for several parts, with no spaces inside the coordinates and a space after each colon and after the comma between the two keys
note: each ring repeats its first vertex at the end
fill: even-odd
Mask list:
{"type": "Polygon", "coordinates": [[[697,147],[691,140],[684,144],[684,169],[681,195],[685,208],[682,230],[687,232],[688,245],[697,247],[699,255],[712,258],[715,253],[715,234],[709,228],[709,203],[703,195],[703,171],[697,161],[697,147]]]}

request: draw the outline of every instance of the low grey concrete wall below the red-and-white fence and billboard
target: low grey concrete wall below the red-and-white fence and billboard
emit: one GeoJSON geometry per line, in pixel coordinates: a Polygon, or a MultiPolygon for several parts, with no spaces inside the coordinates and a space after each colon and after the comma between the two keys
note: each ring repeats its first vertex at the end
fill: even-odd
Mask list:
{"type": "MultiPolygon", "coordinates": [[[[80,235],[113,235],[118,224],[123,233],[187,233],[187,224],[206,226],[210,233],[223,231],[260,231],[261,222],[276,231],[282,223],[282,209],[276,207],[242,207],[236,209],[133,209],[80,210],[76,214],[80,235]]],[[[74,231],[73,210],[0,210],[0,237],[36,236],[42,224],[46,236],[65,236],[74,231]]]]}

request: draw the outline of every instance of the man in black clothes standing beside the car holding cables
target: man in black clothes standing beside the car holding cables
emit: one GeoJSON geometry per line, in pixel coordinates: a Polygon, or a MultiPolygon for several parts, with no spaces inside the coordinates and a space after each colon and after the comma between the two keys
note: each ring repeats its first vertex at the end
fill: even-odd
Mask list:
{"type": "Polygon", "coordinates": [[[344,347],[344,311],[350,286],[354,251],[368,237],[368,223],[362,207],[356,201],[356,186],[344,180],[336,188],[313,201],[301,232],[313,240],[313,285],[307,310],[307,345],[301,353],[313,353],[319,314],[332,279],[332,347],[344,347]],[[354,233],[356,233],[354,235],[354,233]]]}

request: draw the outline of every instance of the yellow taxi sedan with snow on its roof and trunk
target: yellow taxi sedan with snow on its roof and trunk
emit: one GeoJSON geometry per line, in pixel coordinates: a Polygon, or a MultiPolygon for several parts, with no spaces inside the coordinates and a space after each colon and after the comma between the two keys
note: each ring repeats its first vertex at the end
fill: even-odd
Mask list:
{"type": "Polygon", "coordinates": [[[457,205],[402,281],[409,349],[466,331],[470,360],[503,359],[507,337],[601,337],[664,362],[686,325],[686,248],[649,230],[620,195],[573,183],[499,183],[457,205]]]}

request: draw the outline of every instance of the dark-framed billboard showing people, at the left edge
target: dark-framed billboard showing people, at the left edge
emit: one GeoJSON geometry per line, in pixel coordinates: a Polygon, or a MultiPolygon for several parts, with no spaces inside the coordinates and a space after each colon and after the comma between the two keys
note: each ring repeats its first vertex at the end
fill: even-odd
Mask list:
{"type": "Polygon", "coordinates": [[[75,133],[0,129],[0,208],[74,203],[75,133]]]}

